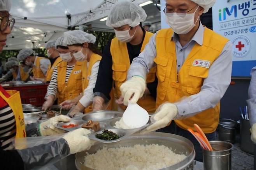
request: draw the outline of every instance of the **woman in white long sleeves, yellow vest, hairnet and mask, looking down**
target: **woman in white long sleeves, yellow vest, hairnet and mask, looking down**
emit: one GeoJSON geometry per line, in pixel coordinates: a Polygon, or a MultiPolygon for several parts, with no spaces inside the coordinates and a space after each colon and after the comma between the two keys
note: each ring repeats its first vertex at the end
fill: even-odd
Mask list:
{"type": "Polygon", "coordinates": [[[95,46],[96,37],[81,30],[64,33],[64,42],[77,61],[83,61],[82,66],[82,89],[83,94],[72,100],[66,100],[60,105],[65,109],[75,108],[70,113],[72,117],[76,112],[88,113],[92,110],[93,88],[95,87],[101,52],[95,46]],[[84,110],[85,109],[85,110],[84,110]]]}

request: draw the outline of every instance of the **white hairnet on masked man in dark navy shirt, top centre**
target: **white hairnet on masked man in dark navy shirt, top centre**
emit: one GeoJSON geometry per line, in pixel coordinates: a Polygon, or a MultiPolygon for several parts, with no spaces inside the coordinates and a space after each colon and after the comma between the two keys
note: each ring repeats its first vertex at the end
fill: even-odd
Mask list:
{"type": "Polygon", "coordinates": [[[111,28],[123,25],[137,26],[140,22],[145,21],[147,14],[139,5],[124,1],[118,2],[112,7],[107,17],[106,25],[111,28]]]}

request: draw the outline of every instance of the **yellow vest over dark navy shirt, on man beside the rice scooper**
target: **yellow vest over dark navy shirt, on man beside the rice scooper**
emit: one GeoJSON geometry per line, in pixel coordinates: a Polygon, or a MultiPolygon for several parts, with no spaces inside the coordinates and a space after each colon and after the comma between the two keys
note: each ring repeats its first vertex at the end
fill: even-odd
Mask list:
{"type": "MultiPolygon", "coordinates": [[[[140,52],[144,50],[152,35],[153,33],[146,32],[140,52]]],[[[110,45],[110,53],[112,55],[112,78],[114,80],[114,96],[116,99],[118,99],[121,96],[120,86],[126,81],[127,72],[131,65],[126,42],[121,42],[117,38],[112,39],[110,45]]],[[[147,74],[147,83],[154,82],[155,75],[156,67],[151,68],[149,74],[147,74]]],[[[140,99],[137,103],[149,113],[153,113],[156,109],[156,101],[150,95],[143,100],[140,99]]],[[[122,109],[125,110],[126,107],[122,107],[122,109]]]]}

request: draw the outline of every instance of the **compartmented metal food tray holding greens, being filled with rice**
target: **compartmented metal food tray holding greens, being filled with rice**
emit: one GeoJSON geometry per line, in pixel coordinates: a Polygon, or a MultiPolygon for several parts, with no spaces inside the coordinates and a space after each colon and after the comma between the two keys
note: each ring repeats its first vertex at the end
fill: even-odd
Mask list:
{"type": "Polygon", "coordinates": [[[124,138],[132,135],[133,133],[136,133],[140,130],[142,130],[143,128],[149,126],[149,124],[151,124],[151,121],[149,120],[149,122],[140,127],[140,128],[135,128],[135,129],[118,129],[115,128],[114,125],[116,123],[116,121],[119,121],[123,116],[123,112],[117,112],[117,111],[111,111],[111,110],[100,110],[100,111],[96,111],[96,112],[91,112],[79,117],[74,117],[71,119],[71,121],[69,122],[60,122],[58,124],[55,125],[56,128],[60,128],[62,130],[66,130],[66,131],[72,131],[75,130],[77,128],[81,128],[82,124],[87,123],[89,120],[92,121],[98,121],[100,123],[100,130],[98,131],[94,131],[91,130],[92,133],[88,135],[88,137],[90,139],[102,142],[102,143],[113,143],[113,142],[118,142],[120,140],[123,140],[124,138]],[[79,124],[76,127],[73,128],[63,128],[63,125],[68,125],[70,123],[73,124],[79,124]],[[99,138],[96,138],[95,135],[98,133],[102,133],[102,131],[104,129],[110,130],[114,133],[116,133],[117,135],[120,135],[121,137],[116,139],[116,140],[101,140],[99,138]]]}

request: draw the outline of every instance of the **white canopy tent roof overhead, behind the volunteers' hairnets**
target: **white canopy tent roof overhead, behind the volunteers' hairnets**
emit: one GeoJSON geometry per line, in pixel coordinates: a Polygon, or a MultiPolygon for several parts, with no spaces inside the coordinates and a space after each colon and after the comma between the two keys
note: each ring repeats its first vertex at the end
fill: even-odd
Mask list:
{"type": "MultiPolygon", "coordinates": [[[[105,25],[105,21],[100,20],[109,14],[110,8],[118,1],[123,0],[11,0],[10,14],[16,23],[4,49],[40,48],[48,40],[57,39],[75,26],[113,31],[105,25]]],[[[151,3],[151,9],[145,11],[151,13],[151,16],[148,14],[149,20],[160,25],[160,12],[154,3],[149,0],[131,1],[136,4],[151,3]]],[[[149,5],[143,8],[149,8],[149,5]]]]}

